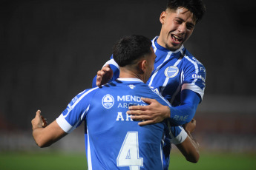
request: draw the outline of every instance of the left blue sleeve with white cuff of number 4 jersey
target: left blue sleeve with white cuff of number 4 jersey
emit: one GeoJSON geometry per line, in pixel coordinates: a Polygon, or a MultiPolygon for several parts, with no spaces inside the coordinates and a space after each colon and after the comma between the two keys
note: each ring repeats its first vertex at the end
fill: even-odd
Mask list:
{"type": "Polygon", "coordinates": [[[91,98],[96,92],[96,88],[86,89],[84,92],[79,93],[68,104],[67,108],[56,119],[59,126],[67,133],[76,129],[83,120],[90,109],[91,98]]]}

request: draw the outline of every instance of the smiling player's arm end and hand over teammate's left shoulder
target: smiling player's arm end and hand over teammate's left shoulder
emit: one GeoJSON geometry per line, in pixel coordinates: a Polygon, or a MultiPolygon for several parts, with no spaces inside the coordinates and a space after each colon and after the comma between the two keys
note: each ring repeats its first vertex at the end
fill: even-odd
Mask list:
{"type": "Polygon", "coordinates": [[[97,72],[97,75],[93,78],[92,87],[101,86],[107,84],[110,81],[116,80],[119,77],[119,66],[114,59],[107,61],[102,69],[97,72]]]}

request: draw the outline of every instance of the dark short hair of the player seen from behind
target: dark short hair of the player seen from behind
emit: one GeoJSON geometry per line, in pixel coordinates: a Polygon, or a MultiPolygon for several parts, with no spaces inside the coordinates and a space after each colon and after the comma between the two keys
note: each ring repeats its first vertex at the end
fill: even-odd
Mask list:
{"type": "Polygon", "coordinates": [[[114,44],[113,58],[119,67],[134,64],[134,61],[146,54],[151,54],[151,41],[142,35],[130,35],[114,44]]]}

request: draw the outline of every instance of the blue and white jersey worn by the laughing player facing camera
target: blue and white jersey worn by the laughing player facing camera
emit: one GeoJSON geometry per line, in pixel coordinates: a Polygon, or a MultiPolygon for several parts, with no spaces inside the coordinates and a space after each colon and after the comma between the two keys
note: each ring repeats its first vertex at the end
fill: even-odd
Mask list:
{"type": "MultiPolygon", "coordinates": [[[[182,125],[194,118],[197,105],[203,100],[206,69],[184,46],[172,52],[157,44],[157,38],[152,40],[157,58],[147,84],[173,106],[170,108],[172,123],[182,125]],[[183,101],[184,96],[187,101],[183,101]],[[191,103],[185,105],[186,102],[191,103]]],[[[119,77],[119,66],[111,58],[106,64],[114,71],[113,81],[119,77]]],[[[96,86],[96,77],[93,86],[96,86]]]]}

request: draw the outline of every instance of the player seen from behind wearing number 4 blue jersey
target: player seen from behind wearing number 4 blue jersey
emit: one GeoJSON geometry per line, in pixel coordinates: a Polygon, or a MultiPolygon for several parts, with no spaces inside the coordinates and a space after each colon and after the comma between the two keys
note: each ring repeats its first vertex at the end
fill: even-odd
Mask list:
{"type": "Polygon", "coordinates": [[[188,160],[197,162],[198,145],[190,135],[195,120],[184,130],[182,126],[170,126],[167,120],[139,126],[126,114],[128,106],[147,105],[141,98],[154,98],[163,106],[170,106],[145,84],[156,58],[151,41],[142,35],[122,38],[114,45],[113,56],[120,70],[116,81],[80,92],[59,118],[45,128],[41,111],[36,112],[31,123],[37,145],[50,146],[85,121],[88,169],[163,169],[164,136],[188,160]]]}

